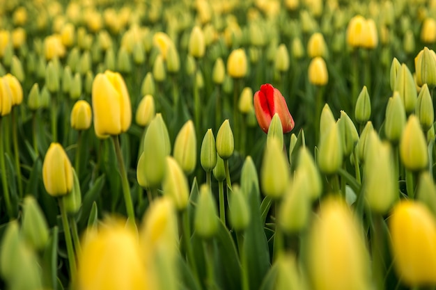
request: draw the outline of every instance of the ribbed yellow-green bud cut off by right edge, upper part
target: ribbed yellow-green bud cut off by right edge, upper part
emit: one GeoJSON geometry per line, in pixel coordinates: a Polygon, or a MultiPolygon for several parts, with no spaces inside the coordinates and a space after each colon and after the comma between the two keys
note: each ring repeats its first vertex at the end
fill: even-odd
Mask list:
{"type": "Polygon", "coordinates": [[[436,54],[433,49],[424,47],[415,58],[416,84],[433,89],[436,86],[436,54]]]}

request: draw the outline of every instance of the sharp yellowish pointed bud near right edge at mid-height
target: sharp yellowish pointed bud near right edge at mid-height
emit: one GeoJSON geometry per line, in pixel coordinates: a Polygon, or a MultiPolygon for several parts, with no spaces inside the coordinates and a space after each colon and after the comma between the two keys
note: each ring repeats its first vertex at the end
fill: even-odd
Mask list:
{"type": "Polygon", "coordinates": [[[415,115],[410,115],[405,125],[400,141],[400,157],[407,170],[419,171],[428,166],[426,137],[415,115]]]}

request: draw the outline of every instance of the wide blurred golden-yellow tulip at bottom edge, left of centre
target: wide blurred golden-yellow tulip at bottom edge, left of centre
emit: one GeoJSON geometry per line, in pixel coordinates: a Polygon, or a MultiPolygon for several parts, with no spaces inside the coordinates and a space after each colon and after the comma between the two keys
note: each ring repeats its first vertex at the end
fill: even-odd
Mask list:
{"type": "Polygon", "coordinates": [[[91,229],[78,257],[77,289],[143,290],[148,287],[137,234],[119,221],[91,229]]]}

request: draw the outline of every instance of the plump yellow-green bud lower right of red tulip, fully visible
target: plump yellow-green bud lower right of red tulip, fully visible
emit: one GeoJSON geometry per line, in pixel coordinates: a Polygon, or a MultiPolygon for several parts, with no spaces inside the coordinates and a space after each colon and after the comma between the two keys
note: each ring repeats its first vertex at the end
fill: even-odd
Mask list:
{"type": "Polygon", "coordinates": [[[325,175],[332,175],[341,168],[343,148],[338,124],[330,124],[330,127],[322,134],[317,157],[318,167],[325,175]]]}

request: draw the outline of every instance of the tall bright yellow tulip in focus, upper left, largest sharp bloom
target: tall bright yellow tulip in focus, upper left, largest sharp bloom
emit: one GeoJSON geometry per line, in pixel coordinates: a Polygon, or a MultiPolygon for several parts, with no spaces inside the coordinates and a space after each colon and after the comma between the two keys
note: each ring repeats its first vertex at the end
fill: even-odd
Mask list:
{"type": "Polygon", "coordinates": [[[98,136],[118,135],[130,127],[132,108],[123,76],[107,70],[92,86],[94,129],[98,136]]]}

